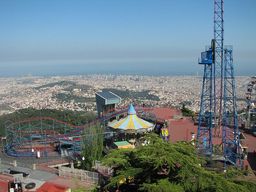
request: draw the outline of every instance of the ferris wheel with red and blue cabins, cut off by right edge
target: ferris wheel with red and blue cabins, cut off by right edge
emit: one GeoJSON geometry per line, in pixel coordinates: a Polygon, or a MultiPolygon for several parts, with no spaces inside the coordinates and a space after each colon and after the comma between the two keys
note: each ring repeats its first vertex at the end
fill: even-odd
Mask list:
{"type": "Polygon", "coordinates": [[[256,115],[256,75],[251,78],[250,84],[247,85],[246,93],[247,110],[250,116],[256,115]]]}

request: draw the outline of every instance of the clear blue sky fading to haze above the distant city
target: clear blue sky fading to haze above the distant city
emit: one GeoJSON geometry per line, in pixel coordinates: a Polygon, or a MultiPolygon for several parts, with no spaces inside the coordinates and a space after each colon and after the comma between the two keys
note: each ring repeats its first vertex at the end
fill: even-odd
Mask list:
{"type": "MultiPolygon", "coordinates": [[[[213,11],[214,0],[1,0],[0,76],[129,65],[200,74],[197,58],[213,38],[213,11]]],[[[256,73],[255,31],[256,1],[225,0],[224,44],[233,45],[237,74],[256,73]]]]}

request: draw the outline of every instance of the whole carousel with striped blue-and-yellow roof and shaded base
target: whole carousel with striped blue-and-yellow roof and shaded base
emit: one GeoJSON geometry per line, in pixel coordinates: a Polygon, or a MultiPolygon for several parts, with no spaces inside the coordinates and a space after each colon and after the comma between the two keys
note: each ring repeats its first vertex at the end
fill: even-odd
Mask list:
{"type": "Polygon", "coordinates": [[[130,107],[127,111],[127,115],[116,122],[110,122],[108,124],[109,129],[117,133],[114,137],[115,141],[129,141],[134,144],[137,137],[144,136],[147,132],[152,132],[155,125],[139,118],[136,115],[136,111],[132,106],[132,100],[130,101],[130,107]]]}

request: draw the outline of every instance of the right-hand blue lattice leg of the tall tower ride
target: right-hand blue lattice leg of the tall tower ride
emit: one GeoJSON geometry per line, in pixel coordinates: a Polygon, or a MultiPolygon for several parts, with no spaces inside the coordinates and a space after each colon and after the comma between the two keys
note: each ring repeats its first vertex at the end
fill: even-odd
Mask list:
{"type": "Polygon", "coordinates": [[[241,166],[241,147],[239,141],[236,88],[233,68],[233,46],[225,46],[224,110],[223,110],[223,149],[224,164],[241,166]]]}

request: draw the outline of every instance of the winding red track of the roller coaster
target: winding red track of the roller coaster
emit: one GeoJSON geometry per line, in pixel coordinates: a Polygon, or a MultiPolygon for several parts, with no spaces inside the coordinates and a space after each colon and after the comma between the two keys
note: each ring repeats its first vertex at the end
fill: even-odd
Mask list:
{"type": "MultiPolygon", "coordinates": [[[[82,126],[68,124],[63,121],[59,121],[59,120],[53,119],[51,117],[46,117],[46,116],[21,119],[21,120],[14,121],[14,122],[10,121],[10,123],[6,122],[7,123],[5,125],[6,142],[7,142],[7,144],[9,144],[9,146],[11,146],[11,147],[9,147],[9,151],[17,152],[17,148],[18,148],[18,146],[20,146],[20,148],[23,147],[23,149],[25,150],[24,152],[27,152],[27,153],[29,152],[29,149],[24,148],[24,146],[30,145],[32,147],[32,144],[36,145],[37,143],[40,143],[40,142],[50,143],[50,142],[56,142],[57,140],[63,140],[63,141],[66,140],[67,142],[70,142],[70,143],[73,143],[73,144],[79,146],[81,144],[70,139],[70,137],[79,136],[79,135],[77,135],[78,132],[80,133],[80,131],[83,131],[85,128],[88,128],[96,123],[100,123],[104,120],[108,120],[109,118],[111,118],[113,116],[123,114],[124,112],[126,112],[128,110],[128,108],[129,108],[129,106],[112,108],[112,109],[106,111],[104,114],[102,114],[96,120],[94,120],[86,125],[82,125],[82,126]],[[28,130],[28,128],[24,129],[24,127],[17,128],[18,124],[23,123],[23,125],[24,125],[24,123],[29,122],[29,125],[30,125],[30,122],[38,121],[38,120],[41,122],[42,122],[42,120],[51,120],[52,122],[59,123],[62,126],[68,126],[73,131],[71,131],[67,134],[61,134],[61,133],[53,131],[53,130],[43,129],[43,127],[41,127],[41,129],[38,127],[33,127],[32,129],[29,129],[29,130],[28,130]],[[41,133],[42,135],[39,135],[38,133],[41,133]],[[32,140],[31,136],[36,136],[36,135],[38,137],[37,140],[36,141],[32,140]],[[18,139],[18,137],[20,137],[20,140],[18,139]],[[23,139],[21,139],[21,137],[23,139]],[[30,140],[28,139],[29,137],[30,137],[30,140]],[[13,147],[13,146],[16,146],[16,147],[13,147]]],[[[154,114],[153,113],[154,107],[149,106],[149,105],[134,105],[134,108],[138,112],[142,112],[142,113],[145,112],[147,114],[151,113],[152,115],[154,114]]],[[[48,128],[49,128],[49,125],[48,125],[48,128]]],[[[47,145],[48,144],[44,144],[45,149],[42,149],[41,151],[46,151],[46,150],[48,151],[48,148],[49,148],[49,150],[52,150],[52,147],[47,146],[47,145]]],[[[7,149],[7,151],[8,151],[8,149],[7,149]]],[[[9,154],[9,155],[12,155],[12,154],[9,154]]],[[[16,154],[15,156],[18,156],[18,155],[16,154]]],[[[24,155],[21,155],[21,156],[24,156],[24,155]]],[[[27,156],[30,156],[30,155],[27,155],[27,156]]]]}

